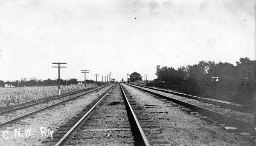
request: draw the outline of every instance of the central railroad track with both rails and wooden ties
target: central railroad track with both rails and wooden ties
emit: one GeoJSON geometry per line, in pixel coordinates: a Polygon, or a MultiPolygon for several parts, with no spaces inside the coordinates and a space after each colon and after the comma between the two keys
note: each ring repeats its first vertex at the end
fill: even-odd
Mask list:
{"type": "Polygon", "coordinates": [[[147,113],[115,85],[61,126],[52,140],[62,145],[149,146],[167,144],[147,113]]]}

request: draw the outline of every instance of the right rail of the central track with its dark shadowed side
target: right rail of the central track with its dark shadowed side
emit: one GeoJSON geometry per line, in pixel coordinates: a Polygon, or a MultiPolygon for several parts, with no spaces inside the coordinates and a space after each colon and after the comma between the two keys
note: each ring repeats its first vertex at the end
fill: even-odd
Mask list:
{"type": "Polygon", "coordinates": [[[125,101],[125,103],[128,105],[128,108],[127,108],[127,109],[129,110],[129,112],[130,112],[131,115],[132,115],[131,118],[134,120],[135,126],[137,127],[137,129],[139,129],[140,137],[143,139],[142,145],[144,145],[144,146],[150,146],[150,144],[149,144],[149,142],[148,142],[148,139],[146,138],[145,133],[143,132],[142,127],[140,126],[140,123],[139,123],[139,121],[138,121],[138,119],[137,119],[137,117],[136,117],[136,115],[135,115],[135,113],[134,113],[134,110],[133,110],[132,107],[131,107],[130,102],[128,101],[128,98],[127,98],[126,95],[125,95],[125,92],[124,92],[124,90],[123,90],[121,84],[119,84],[119,85],[120,85],[121,90],[122,90],[122,95],[123,95],[123,97],[124,97],[124,101],[125,101]]]}

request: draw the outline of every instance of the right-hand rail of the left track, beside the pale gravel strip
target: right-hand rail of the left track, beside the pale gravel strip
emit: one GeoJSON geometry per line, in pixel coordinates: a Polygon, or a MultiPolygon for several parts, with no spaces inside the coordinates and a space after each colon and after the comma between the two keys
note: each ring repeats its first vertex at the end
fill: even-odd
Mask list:
{"type": "MultiPolygon", "coordinates": [[[[103,87],[105,87],[105,86],[103,86],[103,87]]],[[[87,92],[87,93],[91,93],[91,92],[93,92],[93,91],[102,89],[103,87],[97,88],[97,89],[92,90],[92,91],[87,92]]],[[[87,94],[87,93],[83,93],[83,94],[81,94],[81,95],[85,95],[85,94],[87,94]]],[[[51,107],[55,107],[55,106],[57,106],[57,105],[59,105],[59,104],[62,104],[62,103],[64,103],[64,102],[67,102],[67,101],[70,101],[70,100],[72,100],[72,99],[78,98],[78,97],[80,97],[81,95],[77,95],[77,96],[75,96],[75,97],[72,97],[72,98],[69,98],[69,99],[67,99],[67,100],[58,102],[58,103],[56,103],[56,104],[52,104],[52,105],[50,105],[50,106],[48,106],[48,107],[44,107],[44,108],[39,109],[39,110],[36,110],[36,111],[34,111],[34,112],[30,112],[30,113],[28,113],[28,114],[26,114],[26,115],[22,115],[22,116],[20,116],[20,117],[14,118],[14,119],[12,119],[12,120],[6,121],[6,122],[4,122],[4,123],[1,123],[1,124],[0,124],[0,127],[1,127],[1,126],[4,126],[4,125],[7,125],[7,124],[10,124],[10,123],[12,123],[12,122],[14,122],[14,121],[17,121],[17,120],[21,119],[21,118],[25,118],[25,117],[27,117],[27,116],[29,116],[29,115],[35,114],[35,113],[37,113],[37,112],[40,112],[40,111],[42,111],[42,110],[46,110],[46,109],[49,109],[49,108],[51,108],[51,107]]]]}

